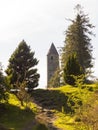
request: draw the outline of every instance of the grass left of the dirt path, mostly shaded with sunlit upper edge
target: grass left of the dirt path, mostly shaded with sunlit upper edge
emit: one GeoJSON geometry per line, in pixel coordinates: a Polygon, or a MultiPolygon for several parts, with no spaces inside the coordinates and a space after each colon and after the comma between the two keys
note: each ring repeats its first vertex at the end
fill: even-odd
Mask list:
{"type": "Polygon", "coordinates": [[[34,119],[36,105],[30,103],[30,110],[22,107],[20,101],[13,94],[9,94],[8,103],[3,103],[4,109],[0,112],[0,124],[11,130],[21,130],[30,120],[34,119]]]}

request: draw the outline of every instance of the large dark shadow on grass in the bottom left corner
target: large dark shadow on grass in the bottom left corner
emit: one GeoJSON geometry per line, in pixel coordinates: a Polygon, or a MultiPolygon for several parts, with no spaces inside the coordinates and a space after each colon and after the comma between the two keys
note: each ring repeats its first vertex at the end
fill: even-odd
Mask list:
{"type": "Polygon", "coordinates": [[[20,109],[18,106],[14,106],[11,104],[1,105],[2,107],[0,107],[0,124],[8,129],[21,130],[25,123],[30,121],[30,119],[33,119],[35,116],[31,110],[23,110],[20,109]]]}

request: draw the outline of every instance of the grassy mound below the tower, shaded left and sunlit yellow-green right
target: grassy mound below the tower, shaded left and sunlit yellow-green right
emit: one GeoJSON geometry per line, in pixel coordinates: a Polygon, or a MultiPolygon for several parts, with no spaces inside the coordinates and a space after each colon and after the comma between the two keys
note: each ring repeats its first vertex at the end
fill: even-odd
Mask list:
{"type": "MultiPolygon", "coordinates": [[[[34,101],[43,108],[46,109],[55,109],[57,111],[65,113],[71,112],[71,106],[68,105],[70,102],[71,105],[74,105],[74,98],[77,100],[84,102],[92,91],[88,89],[79,90],[78,87],[73,87],[70,85],[66,85],[60,88],[51,88],[51,89],[36,89],[32,92],[32,97],[34,101]]],[[[95,88],[94,85],[92,88],[95,88]]]]}

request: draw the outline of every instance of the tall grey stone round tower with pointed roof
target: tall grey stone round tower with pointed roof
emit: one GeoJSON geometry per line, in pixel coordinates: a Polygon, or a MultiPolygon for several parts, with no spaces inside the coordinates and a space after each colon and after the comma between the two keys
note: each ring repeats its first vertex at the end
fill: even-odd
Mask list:
{"type": "Polygon", "coordinates": [[[49,52],[47,54],[47,86],[49,83],[49,80],[59,67],[59,54],[54,46],[54,44],[51,44],[51,47],[49,49],[49,52]]]}

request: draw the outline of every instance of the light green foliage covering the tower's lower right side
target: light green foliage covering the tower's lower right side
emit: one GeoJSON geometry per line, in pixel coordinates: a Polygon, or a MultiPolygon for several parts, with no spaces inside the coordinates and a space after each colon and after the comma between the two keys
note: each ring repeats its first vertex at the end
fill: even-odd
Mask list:
{"type": "Polygon", "coordinates": [[[53,88],[60,87],[60,69],[57,69],[54,75],[51,77],[48,83],[48,88],[51,87],[53,88]]]}

